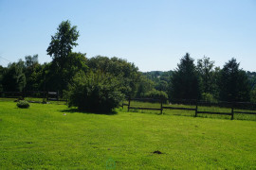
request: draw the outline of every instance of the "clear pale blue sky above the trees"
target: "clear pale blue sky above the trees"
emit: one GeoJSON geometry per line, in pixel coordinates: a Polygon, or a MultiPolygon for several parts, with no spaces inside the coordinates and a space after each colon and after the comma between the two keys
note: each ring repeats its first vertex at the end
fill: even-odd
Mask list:
{"type": "Polygon", "coordinates": [[[222,67],[235,58],[256,71],[256,0],[0,0],[0,65],[34,54],[50,61],[46,48],[64,20],[78,26],[73,51],[87,58],[168,71],[189,52],[195,61],[207,56],[222,67]]]}

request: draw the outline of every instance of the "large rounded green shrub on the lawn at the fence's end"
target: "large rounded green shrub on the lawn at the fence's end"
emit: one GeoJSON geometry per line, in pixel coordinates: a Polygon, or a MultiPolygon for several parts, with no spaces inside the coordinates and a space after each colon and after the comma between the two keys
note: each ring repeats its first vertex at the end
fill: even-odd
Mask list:
{"type": "Polygon", "coordinates": [[[115,76],[100,71],[87,75],[80,72],[68,86],[68,106],[85,111],[110,112],[119,107],[119,102],[124,98],[120,88],[115,76]]]}

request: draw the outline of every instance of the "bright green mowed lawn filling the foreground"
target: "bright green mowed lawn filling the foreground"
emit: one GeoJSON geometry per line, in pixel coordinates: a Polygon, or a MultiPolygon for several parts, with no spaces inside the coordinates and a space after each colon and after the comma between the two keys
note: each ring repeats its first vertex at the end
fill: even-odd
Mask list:
{"type": "Polygon", "coordinates": [[[255,121],[0,101],[0,169],[218,168],[256,169],[255,121]]]}

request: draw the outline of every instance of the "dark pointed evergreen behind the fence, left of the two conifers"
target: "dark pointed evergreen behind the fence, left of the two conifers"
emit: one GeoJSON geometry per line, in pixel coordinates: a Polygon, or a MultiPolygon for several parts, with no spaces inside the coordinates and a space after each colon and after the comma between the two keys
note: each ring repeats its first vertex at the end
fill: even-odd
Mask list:
{"type": "Polygon", "coordinates": [[[200,95],[200,79],[190,54],[187,53],[171,78],[172,99],[197,99],[200,95]]]}

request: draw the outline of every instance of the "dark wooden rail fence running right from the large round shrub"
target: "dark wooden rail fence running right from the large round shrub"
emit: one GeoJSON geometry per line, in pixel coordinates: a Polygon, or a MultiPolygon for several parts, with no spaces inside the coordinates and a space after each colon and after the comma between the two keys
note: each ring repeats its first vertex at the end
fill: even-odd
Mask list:
{"type": "MultiPolygon", "coordinates": [[[[206,103],[206,102],[195,102],[195,108],[179,108],[179,107],[165,107],[163,106],[163,102],[160,99],[149,99],[149,98],[128,98],[128,103],[122,103],[122,109],[124,106],[128,107],[128,111],[130,109],[134,109],[134,110],[159,110],[160,114],[163,114],[163,110],[193,110],[194,111],[194,116],[197,117],[197,114],[221,114],[221,115],[230,115],[230,119],[233,120],[234,118],[234,113],[241,113],[241,114],[254,114],[256,115],[256,110],[254,110],[254,112],[248,112],[248,111],[240,111],[240,110],[234,110],[237,108],[237,106],[241,105],[241,104],[250,104],[250,105],[254,105],[256,106],[256,103],[246,103],[246,102],[225,102],[226,108],[230,109],[230,112],[219,112],[219,111],[207,111],[207,110],[198,110],[198,106],[219,106],[216,103],[206,103]],[[149,100],[154,100],[154,101],[159,101],[160,106],[159,108],[142,108],[142,107],[133,107],[131,106],[131,101],[135,100],[135,101],[149,101],[149,100]]],[[[224,105],[222,105],[221,107],[225,107],[224,105]]]]}

